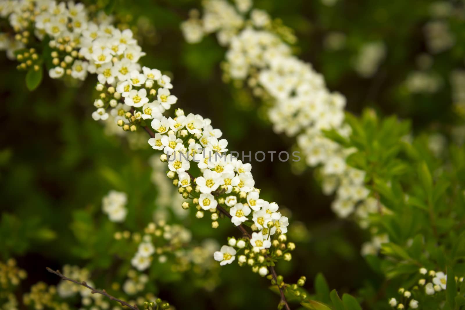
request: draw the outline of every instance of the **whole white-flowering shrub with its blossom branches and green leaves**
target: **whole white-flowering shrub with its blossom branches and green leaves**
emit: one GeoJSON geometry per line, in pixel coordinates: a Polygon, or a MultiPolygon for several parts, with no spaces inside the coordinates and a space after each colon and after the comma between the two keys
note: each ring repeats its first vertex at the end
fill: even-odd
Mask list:
{"type": "MultiPolygon", "coordinates": [[[[184,22],[189,42],[217,33],[219,43],[228,47],[225,79],[247,81],[253,94],[269,105],[274,130],[296,136],[306,163],[319,167],[324,191],[336,193],[333,211],[354,218],[368,231],[369,241],[361,251],[382,278],[385,300],[369,284],[359,291],[358,300],[349,294],[339,298],[321,274],[311,295],[302,288],[305,276],[290,284],[275,270],[280,260],[292,259],[296,245],[287,236],[292,224],[280,203],[265,199],[268,193],[255,187],[252,165],[228,151],[228,141],[211,119],[180,108],[168,116],[178,101],[170,74],[141,66],[146,54],[134,33],[113,26],[113,17],[97,7],[90,8],[51,0],[2,1],[1,16],[8,20],[4,49],[20,62],[18,69],[27,70],[31,90],[39,86],[44,66],[50,78],[64,83],[96,74],[91,117],[108,123],[109,132],[116,127],[119,134],[150,135],[146,144],[161,153],[160,160],[150,160],[153,183],[161,192],[157,204],[167,201],[166,207],[140,231],[144,226],[131,224],[131,209],[142,190],[120,186],[117,174],[102,170],[112,183],[99,206],[104,220],[94,223],[88,210],[73,213],[71,229],[79,242],[72,251],[90,258],[108,250],[114,257],[91,261],[90,270],[117,275],[109,275],[107,289],[98,290],[89,269],[65,265],[62,273],[49,270],[62,279],[56,288],[35,284],[23,295],[23,304],[67,309],[79,292],[78,303],[89,309],[108,309],[112,300],[131,309],[137,309],[135,304],[167,309],[170,305],[154,296],[154,282],[185,273],[182,277],[189,283],[213,290],[218,266],[237,261],[271,281],[271,290],[280,296],[279,309],[297,302],[307,309],[356,310],[360,301],[373,309],[460,309],[465,302],[463,148],[445,148],[441,138],[427,133],[413,138],[408,122],[379,119],[370,109],[361,117],[345,113],[345,98],[330,92],[319,73],[292,55],[292,30],[265,11],[252,9],[251,1],[236,1],[235,6],[206,1],[202,20],[193,14],[184,22]],[[173,191],[179,192],[177,198],[173,191]],[[170,216],[183,218],[179,206],[193,210],[196,218],[209,218],[211,229],[221,229],[226,222],[240,234],[228,237],[221,247],[208,239],[195,244],[193,231],[170,222],[170,216]],[[170,268],[164,268],[167,264],[170,268]]],[[[357,61],[361,75],[377,70],[385,57],[383,48],[373,43],[363,50],[357,61]]],[[[7,293],[0,298],[14,308],[18,301],[13,290],[25,273],[13,261],[5,266],[8,280],[2,283],[7,293]]]]}

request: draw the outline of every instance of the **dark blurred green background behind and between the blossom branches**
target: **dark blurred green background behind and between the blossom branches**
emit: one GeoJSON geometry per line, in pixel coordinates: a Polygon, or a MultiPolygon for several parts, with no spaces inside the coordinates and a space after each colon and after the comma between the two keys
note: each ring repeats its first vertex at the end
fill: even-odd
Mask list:
{"type": "MultiPolygon", "coordinates": [[[[412,119],[414,130],[447,130],[459,121],[450,74],[464,69],[463,3],[444,1],[452,6],[452,13],[438,17],[432,10],[436,1],[339,0],[327,5],[330,2],[257,0],[255,7],[295,30],[296,53],[325,76],[331,90],[347,97],[347,110],[358,113],[372,106],[381,114],[412,119]],[[444,52],[431,53],[425,42],[425,25],[431,20],[443,20],[455,38],[444,52]],[[338,41],[334,33],[343,36],[338,41]],[[361,77],[357,57],[370,42],[383,42],[385,57],[371,76],[361,77]],[[430,66],[419,68],[421,55],[431,60],[430,66]],[[438,76],[438,89],[412,92],[405,81],[416,70],[438,76]]],[[[289,150],[292,139],[272,132],[260,102],[247,88],[221,81],[219,63],[225,49],[216,39],[207,37],[196,45],[184,41],[179,24],[192,8],[200,9],[200,1],[119,1],[114,13],[138,27],[147,53],[142,64],[171,75],[179,107],[211,118],[228,139],[230,150],[289,150]]],[[[124,137],[107,135],[103,125],[93,121],[94,77],[82,85],[45,78],[29,92],[25,74],[4,53],[0,64],[0,256],[16,257],[27,270],[28,279],[21,284],[25,291],[39,280],[57,282],[46,273],[46,266],[93,262],[96,274],[105,274],[118,260],[107,252],[113,232],[121,228],[106,220],[101,198],[111,189],[126,191],[130,202],[126,226],[142,231],[158,207],[154,201],[159,192],[150,181],[148,163],[153,150],[146,147],[146,138],[140,138],[141,144],[129,143],[124,137]],[[85,229],[80,225],[83,212],[85,229]]],[[[279,161],[252,161],[252,166],[263,196],[286,207],[292,217],[288,236],[296,241],[297,251],[292,262],[279,264],[279,274],[292,283],[301,275],[312,279],[322,272],[330,287],[340,292],[363,288],[362,279],[377,287],[379,278],[359,254],[366,232],[336,218],[330,210],[332,198],[321,193],[310,169],[301,171],[279,161]]],[[[213,237],[222,244],[226,236],[238,235],[225,222],[213,230],[207,218],[197,220],[193,214],[180,222],[197,241],[213,237]]],[[[278,297],[267,289],[269,282],[239,269],[237,264],[221,268],[214,292],[160,278],[154,293],[179,309],[273,309],[278,297]]],[[[102,286],[104,278],[96,277],[94,282],[102,286]]],[[[312,281],[306,289],[312,290],[312,281]]]]}

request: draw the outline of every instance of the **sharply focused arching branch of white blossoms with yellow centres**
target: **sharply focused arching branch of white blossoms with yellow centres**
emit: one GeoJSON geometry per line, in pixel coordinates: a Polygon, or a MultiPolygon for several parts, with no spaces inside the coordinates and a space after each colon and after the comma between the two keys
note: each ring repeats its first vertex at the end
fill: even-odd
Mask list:
{"type": "MultiPolygon", "coordinates": [[[[171,79],[158,69],[140,66],[145,53],[131,30],[116,29],[106,15],[91,16],[80,3],[4,2],[0,16],[9,18],[16,33],[13,37],[5,34],[5,46],[9,54],[16,54],[20,68],[39,71],[42,62],[48,61],[51,78],[85,79],[88,73],[97,74],[99,94],[92,118],[111,119],[124,131],[145,128],[152,137],[149,145],[164,152],[160,159],[167,163],[167,177],[186,199],[182,207],[196,208],[197,218],[209,212],[212,227],[217,228],[219,214],[225,214],[243,234],[243,223],[250,224],[252,234],[230,237],[213,257],[226,265],[237,255],[240,266],[249,265],[262,277],[271,270],[268,277],[281,295],[279,307],[289,309],[284,290],[296,290],[297,285],[286,285],[273,268],[280,259],[292,259],[290,251],[295,244],[286,244],[288,218],[279,212],[278,204],[260,198],[250,172],[252,165],[227,153],[227,140],[220,139],[222,132],[213,128],[210,119],[185,115],[181,109],[173,118],[163,116],[177,102],[171,94],[171,79]],[[45,44],[37,44],[40,41],[45,44]],[[18,45],[23,49],[18,51],[18,45]],[[46,48],[40,50],[40,46],[46,48]]],[[[139,260],[146,257],[138,252],[132,261],[139,260]]],[[[306,298],[306,294],[300,297],[306,298]]]]}

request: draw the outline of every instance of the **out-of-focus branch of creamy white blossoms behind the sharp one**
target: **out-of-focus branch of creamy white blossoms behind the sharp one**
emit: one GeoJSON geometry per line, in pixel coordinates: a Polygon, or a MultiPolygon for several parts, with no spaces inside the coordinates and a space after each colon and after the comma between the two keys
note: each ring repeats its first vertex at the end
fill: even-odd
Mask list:
{"type": "MultiPolygon", "coordinates": [[[[205,1],[204,10],[202,20],[192,17],[183,24],[184,33],[188,33],[189,25],[194,23],[198,27],[203,25],[205,33],[216,31],[222,39],[225,36],[221,33],[235,33],[228,40],[220,40],[220,44],[228,46],[224,66],[228,77],[247,80],[255,95],[272,101],[268,116],[274,131],[296,136],[307,164],[321,166],[324,192],[336,192],[332,209],[340,217],[347,217],[357,208],[355,214],[366,227],[368,213],[380,208],[373,207],[376,202],[372,198],[365,201],[370,194],[364,186],[365,172],[345,164],[345,158],[353,150],[327,139],[322,132],[334,129],[344,137],[351,133],[344,121],[345,98],[330,92],[324,78],[310,64],[292,56],[290,46],[270,30],[271,18],[265,12],[258,11],[263,16],[257,18],[257,11],[252,10],[250,20],[246,20],[247,10],[241,10],[237,4],[234,7],[226,0],[205,1]],[[228,13],[234,10],[235,14],[228,13]],[[226,20],[237,14],[242,14],[242,20],[246,21],[226,20]],[[207,26],[212,20],[216,21],[215,27],[207,26]]],[[[372,73],[373,67],[375,70],[384,57],[384,45],[376,43],[366,50],[361,59],[372,60],[369,66],[363,65],[362,71],[372,73]]]]}

